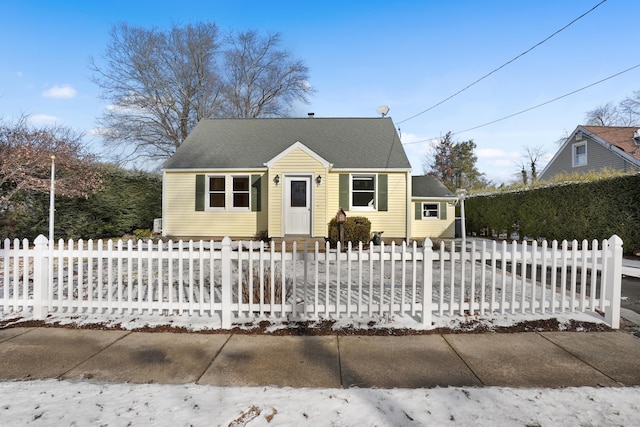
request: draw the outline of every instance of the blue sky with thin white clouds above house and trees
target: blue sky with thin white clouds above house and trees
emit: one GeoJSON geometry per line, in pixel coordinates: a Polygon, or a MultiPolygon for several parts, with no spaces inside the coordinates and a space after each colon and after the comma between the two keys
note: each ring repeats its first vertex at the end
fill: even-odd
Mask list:
{"type": "MultiPolygon", "coordinates": [[[[541,1],[2,1],[0,117],[21,113],[87,134],[95,152],[104,108],[90,81],[117,22],[167,27],[212,21],[224,31],[280,32],[310,68],[316,89],[293,116],[375,117],[400,128],[414,174],[433,138],[554,99],[640,64],[640,1],[607,0],[576,23],[452,99],[470,83],[541,42],[600,0],[541,1]],[[416,142],[422,141],[422,142],[416,142]]],[[[526,147],[551,156],[585,112],[640,90],[640,68],[575,95],[454,139],[473,139],[478,167],[496,183],[519,170],[526,147]]]]}

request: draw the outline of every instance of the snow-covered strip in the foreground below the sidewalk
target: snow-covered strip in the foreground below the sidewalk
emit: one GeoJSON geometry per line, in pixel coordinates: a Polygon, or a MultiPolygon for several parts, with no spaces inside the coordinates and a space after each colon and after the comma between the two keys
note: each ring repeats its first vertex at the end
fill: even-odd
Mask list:
{"type": "Polygon", "coordinates": [[[5,426],[634,426],[640,388],[293,389],[0,383],[5,426]]]}

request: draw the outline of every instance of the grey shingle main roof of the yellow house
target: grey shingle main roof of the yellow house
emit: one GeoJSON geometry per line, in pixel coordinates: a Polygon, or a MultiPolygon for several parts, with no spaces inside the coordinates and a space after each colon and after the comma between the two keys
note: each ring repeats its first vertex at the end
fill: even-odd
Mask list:
{"type": "Polygon", "coordinates": [[[263,168],[296,142],[334,168],[411,169],[390,118],[204,119],[164,169],[263,168]]]}

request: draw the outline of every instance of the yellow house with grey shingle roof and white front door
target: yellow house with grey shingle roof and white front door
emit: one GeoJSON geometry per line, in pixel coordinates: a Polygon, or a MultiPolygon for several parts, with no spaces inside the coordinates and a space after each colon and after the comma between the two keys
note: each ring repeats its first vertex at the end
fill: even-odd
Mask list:
{"type": "Polygon", "coordinates": [[[164,236],[324,238],[340,208],[385,240],[418,236],[390,118],[205,119],[162,172],[164,236]]]}

